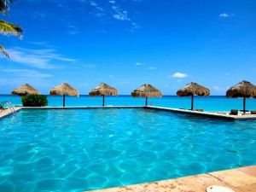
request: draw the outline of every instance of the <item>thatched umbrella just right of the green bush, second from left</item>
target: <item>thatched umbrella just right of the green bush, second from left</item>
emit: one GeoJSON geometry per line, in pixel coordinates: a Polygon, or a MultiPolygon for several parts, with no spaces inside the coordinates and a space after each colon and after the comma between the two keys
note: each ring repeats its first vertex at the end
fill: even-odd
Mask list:
{"type": "Polygon", "coordinates": [[[65,107],[65,96],[79,96],[79,91],[74,89],[70,84],[60,84],[49,90],[50,96],[62,96],[63,95],[63,107],[65,107]]]}

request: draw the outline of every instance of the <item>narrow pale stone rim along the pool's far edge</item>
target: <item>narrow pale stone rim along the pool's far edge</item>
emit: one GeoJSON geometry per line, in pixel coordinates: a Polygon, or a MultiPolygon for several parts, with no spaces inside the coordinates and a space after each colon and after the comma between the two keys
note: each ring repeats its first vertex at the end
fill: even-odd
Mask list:
{"type": "MultiPolygon", "coordinates": [[[[20,109],[90,109],[90,108],[151,108],[155,110],[164,110],[164,111],[170,111],[172,113],[186,113],[191,114],[195,116],[206,116],[213,119],[230,119],[230,120],[247,120],[247,119],[256,119],[256,114],[250,114],[250,113],[241,113],[239,112],[237,115],[230,115],[229,112],[200,112],[200,111],[191,111],[186,109],[178,109],[178,108],[162,108],[162,107],[155,107],[155,106],[79,106],[79,107],[15,107],[15,110],[18,111],[20,109]]],[[[9,109],[3,110],[3,112],[0,112],[0,119],[8,116],[10,114],[9,109]]]]}

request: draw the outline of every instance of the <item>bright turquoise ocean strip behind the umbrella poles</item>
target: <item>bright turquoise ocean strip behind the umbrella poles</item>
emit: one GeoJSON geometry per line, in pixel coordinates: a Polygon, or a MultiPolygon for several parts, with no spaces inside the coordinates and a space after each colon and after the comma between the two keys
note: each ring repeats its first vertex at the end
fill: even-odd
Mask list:
{"type": "MultiPolygon", "coordinates": [[[[62,96],[47,96],[48,106],[61,107],[62,96]]],[[[9,101],[13,106],[22,106],[20,96],[0,95],[0,103],[9,101]]],[[[133,98],[131,96],[105,96],[105,106],[144,106],[145,98],[133,98]]],[[[165,108],[191,108],[191,97],[163,96],[162,98],[148,98],[148,105],[165,108]]],[[[102,106],[102,96],[66,96],[66,107],[78,106],[102,106]]],[[[227,112],[230,109],[241,110],[242,98],[226,98],[226,96],[195,96],[194,109],[202,108],[204,111],[227,112]]],[[[256,99],[246,100],[247,110],[256,110],[256,99]]]]}

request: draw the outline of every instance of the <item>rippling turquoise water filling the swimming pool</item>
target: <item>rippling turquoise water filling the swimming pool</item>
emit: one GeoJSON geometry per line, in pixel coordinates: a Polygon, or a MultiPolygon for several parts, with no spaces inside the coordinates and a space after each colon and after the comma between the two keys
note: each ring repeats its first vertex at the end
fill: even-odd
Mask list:
{"type": "Polygon", "coordinates": [[[154,109],[22,110],[0,119],[0,191],[83,191],[256,164],[256,121],[154,109]]]}

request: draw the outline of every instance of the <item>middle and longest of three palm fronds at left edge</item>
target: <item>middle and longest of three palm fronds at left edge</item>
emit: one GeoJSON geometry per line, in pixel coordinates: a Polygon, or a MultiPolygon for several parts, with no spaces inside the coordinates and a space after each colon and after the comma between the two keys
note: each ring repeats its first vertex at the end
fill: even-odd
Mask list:
{"type": "Polygon", "coordinates": [[[6,20],[0,20],[0,33],[3,35],[16,35],[20,39],[22,39],[22,35],[20,32],[23,32],[21,26],[17,26],[12,24],[6,20]]]}

